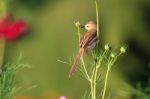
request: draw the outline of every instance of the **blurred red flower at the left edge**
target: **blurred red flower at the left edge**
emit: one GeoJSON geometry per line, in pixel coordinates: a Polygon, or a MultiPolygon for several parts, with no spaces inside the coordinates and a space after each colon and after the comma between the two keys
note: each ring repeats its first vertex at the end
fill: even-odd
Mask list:
{"type": "Polygon", "coordinates": [[[27,23],[23,20],[13,20],[12,15],[0,19],[0,38],[8,41],[16,40],[27,31],[27,23]]]}

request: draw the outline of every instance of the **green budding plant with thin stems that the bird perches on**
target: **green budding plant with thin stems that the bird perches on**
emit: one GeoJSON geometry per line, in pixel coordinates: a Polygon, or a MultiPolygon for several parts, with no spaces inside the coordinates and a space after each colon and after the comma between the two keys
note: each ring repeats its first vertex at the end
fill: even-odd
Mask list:
{"type": "MultiPolygon", "coordinates": [[[[99,8],[98,1],[95,0],[96,6],[96,19],[97,19],[97,38],[99,39],[99,8]]],[[[80,42],[81,31],[80,31],[80,23],[75,23],[78,31],[78,38],[80,42]]],[[[107,89],[107,80],[109,76],[109,72],[113,67],[114,63],[117,61],[118,57],[126,52],[126,48],[122,46],[120,48],[120,52],[116,52],[110,49],[109,44],[106,44],[104,48],[99,49],[99,45],[93,50],[91,60],[88,64],[85,63],[83,56],[81,56],[81,66],[78,69],[82,78],[86,79],[90,84],[90,93],[87,92],[84,94],[82,99],[98,99],[102,97],[105,99],[106,89],[107,89]],[[88,65],[88,66],[87,66],[88,65]],[[90,66],[89,66],[90,65],[90,66]],[[106,74],[104,78],[104,86],[102,90],[102,95],[97,94],[98,84],[101,81],[101,68],[106,67],[106,74]]]]}

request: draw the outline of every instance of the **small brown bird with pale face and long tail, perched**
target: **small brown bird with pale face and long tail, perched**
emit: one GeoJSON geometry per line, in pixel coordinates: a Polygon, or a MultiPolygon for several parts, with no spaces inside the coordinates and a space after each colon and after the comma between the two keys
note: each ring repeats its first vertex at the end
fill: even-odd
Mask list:
{"type": "Polygon", "coordinates": [[[85,52],[87,52],[89,49],[94,48],[96,43],[97,43],[97,25],[96,25],[96,22],[89,21],[82,28],[85,28],[87,31],[80,38],[79,51],[78,51],[76,57],[74,58],[72,67],[69,71],[69,77],[71,77],[75,73],[77,66],[80,63],[81,56],[85,52]]]}

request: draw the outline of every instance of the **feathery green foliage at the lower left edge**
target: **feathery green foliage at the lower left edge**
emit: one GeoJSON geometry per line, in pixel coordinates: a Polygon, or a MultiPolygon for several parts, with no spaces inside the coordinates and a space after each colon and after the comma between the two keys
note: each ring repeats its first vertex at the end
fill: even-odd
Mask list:
{"type": "Polygon", "coordinates": [[[19,59],[9,62],[3,66],[0,72],[0,99],[13,99],[22,87],[18,86],[15,77],[23,68],[30,67],[27,64],[22,64],[19,59]]]}

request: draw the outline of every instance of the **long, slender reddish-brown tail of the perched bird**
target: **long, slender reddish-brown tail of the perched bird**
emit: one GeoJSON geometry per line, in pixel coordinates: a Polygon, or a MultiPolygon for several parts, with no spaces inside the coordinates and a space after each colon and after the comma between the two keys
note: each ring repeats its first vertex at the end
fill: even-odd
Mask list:
{"type": "Polygon", "coordinates": [[[72,67],[71,67],[71,69],[70,69],[70,71],[69,71],[69,77],[71,77],[71,76],[75,73],[75,71],[76,71],[76,69],[77,69],[77,66],[78,66],[79,63],[80,63],[80,58],[81,58],[81,56],[83,55],[84,51],[85,51],[84,48],[80,48],[78,54],[77,54],[76,57],[74,58],[72,67]]]}

